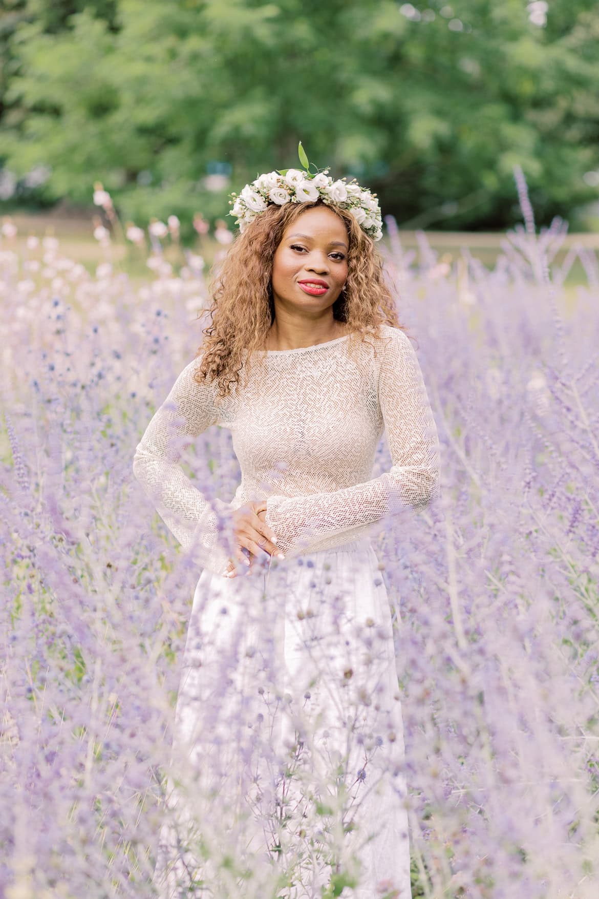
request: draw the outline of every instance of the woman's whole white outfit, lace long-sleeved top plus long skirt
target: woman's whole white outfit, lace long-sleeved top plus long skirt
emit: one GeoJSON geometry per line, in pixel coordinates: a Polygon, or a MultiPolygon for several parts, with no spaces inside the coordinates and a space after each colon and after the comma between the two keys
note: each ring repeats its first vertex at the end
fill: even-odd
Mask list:
{"type": "Polygon", "coordinates": [[[439,446],[400,329],[269,351],[216,401],[189,363],[134,472],[203,568],[175,714],[154,884],[174,896],[410,897],[401,701],[370,542],[439,490],[439,446]],[[210,425],[242,472],[209,503],[178,464],[210,425]],[[386,432],[392,467],[372,478],[386,432]],[[266,500],[284,560],[232,579],[227,512],[266,500]],[[250,874],[251,872],[251,874],[250,874]],[[277,879],[278,878],[278,879],[277,879]]]}

